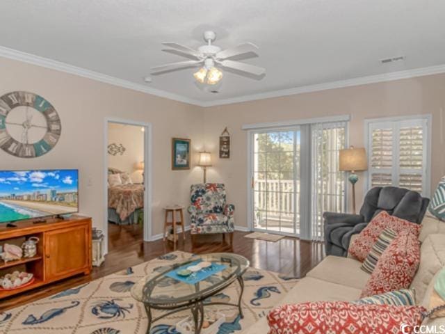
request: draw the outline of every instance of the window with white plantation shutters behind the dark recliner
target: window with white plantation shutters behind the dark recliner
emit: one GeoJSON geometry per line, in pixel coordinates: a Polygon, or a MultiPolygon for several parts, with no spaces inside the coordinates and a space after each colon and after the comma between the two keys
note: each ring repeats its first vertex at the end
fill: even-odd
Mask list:
{"type": "Polygon", "coordinates": [[[428,195],[428,120],[366,121],[369,189],[392,185],[428,195]]]}

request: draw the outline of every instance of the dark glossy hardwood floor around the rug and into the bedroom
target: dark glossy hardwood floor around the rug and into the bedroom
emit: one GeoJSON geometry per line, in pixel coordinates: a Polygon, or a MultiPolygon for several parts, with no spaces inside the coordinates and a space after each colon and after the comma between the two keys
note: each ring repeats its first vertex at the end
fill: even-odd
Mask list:
{"type": "MultiPolygon", "coordinates": [[[[93,267],[89,276],[76,276],[41,289],[0,301],[0,311],[15,308],[19,305],[50,296],[70,287],[101,278],[127,267],[173,251],[169,241],[143,242],[143,231],[138,225],[119,227],[109,224],[109,250],[101,267],[93,267]]],[[[323,259],[323,244],[302,241],[286,237],[277,242],[261,241],[245,238],[247,232],[234,232],[233,248],[222,243],[221,234],[197,236],[195,248],[192,250],[190,232],[186,232],[186,240],[179,238],[177,250],[190,253],[234,252],[250,260],[250,266],[269,271],[283,273],[286,276],[303,277],[323,259]]],[[[180,235],[180,237],[182,237],[180,235]]],[[[229,238],[226,238],[226,240],[229,238]]]]}

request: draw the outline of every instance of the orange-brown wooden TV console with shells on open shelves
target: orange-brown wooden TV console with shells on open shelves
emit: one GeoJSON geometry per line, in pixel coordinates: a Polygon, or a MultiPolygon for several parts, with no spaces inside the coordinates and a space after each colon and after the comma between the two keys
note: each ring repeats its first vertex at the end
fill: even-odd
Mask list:
{"type": "Polygon", "coordinates": [[[29,237],[38,237],[38,250],[35,257],[22,257],[21,260],[3,262],[0,258],[0,277],[13,271],[26,271],[34,274],[31,285],[0,290],[0,299],[35,287],[47,285],[56,280],[91,271],[91,218],[71,216],[66,219],[48,218],[44,223],[17,221],[17,228],[7,228],[0,224],[0,245],[22,246],[29,237]]]}

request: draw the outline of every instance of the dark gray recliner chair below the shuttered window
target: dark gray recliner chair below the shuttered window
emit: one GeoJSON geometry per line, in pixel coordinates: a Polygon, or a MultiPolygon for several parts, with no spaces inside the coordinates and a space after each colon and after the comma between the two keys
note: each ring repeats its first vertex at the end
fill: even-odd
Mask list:
{"type": "Polygon", "coordinates": [[[326,255],[348,255],[350,237],[361,232],[383,210],[412,223],[421,223],[429,202],[416,191],[385,186],[375,187],[366,193],[359,214],[325,212],[326,255]]]}

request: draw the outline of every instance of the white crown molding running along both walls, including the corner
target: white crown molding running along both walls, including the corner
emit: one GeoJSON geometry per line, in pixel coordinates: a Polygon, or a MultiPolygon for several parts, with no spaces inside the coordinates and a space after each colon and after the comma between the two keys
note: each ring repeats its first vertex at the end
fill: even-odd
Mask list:
{"type": "Polygon", "coordinates": [[[67,63],[62,63],[60,61],[54,61],[52,59],[44,58],[41,56],[35,56],[33,54],[28,54],[26,52],[10,49],[8,47],[0,46],[0,56],[5,58],[10,58],[16,61],[22,61],[24,63],[30,63],[33,65],[47,67],[50,68],[51,70],[58,70],[61,72],[78,75],[79,77],[84,77],[95,81],[104,82],[105,84],[111,84],[113,86],[136,90],[138,92],[164,97],[165,99],[175,100],[178,102],[184,102],[187,104],[193,104],[195,106],[202,106],[202,107],[221,106],[225,104],[249,102],[254,100],[264,100],[264,99],[270,99],[272,97],[283,97],[283,96],[297,95],[303,93],[313,93],[321,90],[346,88],[346,87],[361,86],[366,84],[377,84],[379,82],[410,79],[415,77],[423,77],[426,75],[445,73],[445,64],[443,64],[443,65],[417,68],[414,70],[404,70],[399,72],[370,75],[367,77],[359,77],[354,79],[332,81],[324,84],[300,86],[283,90],[273,90],[265,93],[244,95],[241,97],[230,97],[227,99],[207,102],[207,101],[194,100],[175,93],[169,93],[166,92],[165,90],[147,87],[142,84],[135,84],[128,80],[111,77],[107,74],[95,72],[92,70],[86,70],[85,68],[77,67],[67,63]]]}

